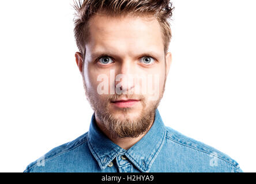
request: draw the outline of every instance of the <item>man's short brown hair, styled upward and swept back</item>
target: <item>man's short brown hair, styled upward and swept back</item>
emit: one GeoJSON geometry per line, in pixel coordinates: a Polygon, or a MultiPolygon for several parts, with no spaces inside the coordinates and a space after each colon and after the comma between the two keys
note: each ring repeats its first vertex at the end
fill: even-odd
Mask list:
{"type": "Polygon", "coordinates": [[[74,18],[74,36],[82,57],[85,56],[85,44],[88,43],[89,19],[94,14],[121,17],[131,14],[139,17],[155,17],[160,24],[164,40],[164,53],[168,52],[171,41],[171,28],[168,22],[174,7],[170,0],[74,0],[76,10],[74,18]]]}

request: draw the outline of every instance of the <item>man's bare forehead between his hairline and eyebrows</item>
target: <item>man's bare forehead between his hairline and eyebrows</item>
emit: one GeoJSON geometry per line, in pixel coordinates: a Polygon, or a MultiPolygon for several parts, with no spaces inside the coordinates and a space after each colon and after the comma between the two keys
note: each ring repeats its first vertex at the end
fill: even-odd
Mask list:
{"type": "Polygon", "coordinates": [[[110,17],[95,15],[89,21],[90,39],[86,49],[115,51],[122,54],[135,52],[163,52],[160,24],[156,18],[110,17]]]}

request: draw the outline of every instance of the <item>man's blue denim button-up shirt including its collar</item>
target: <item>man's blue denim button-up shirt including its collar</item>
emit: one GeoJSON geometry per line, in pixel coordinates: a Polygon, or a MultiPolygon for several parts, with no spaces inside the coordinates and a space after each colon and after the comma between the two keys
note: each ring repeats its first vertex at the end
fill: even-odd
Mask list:
{"type": "Polygon", "coordinates": [[[88,132],[53,148],[24,170],[24,173],[35,172],[239,173],[242,170],[235,160],[215,148],[165,127],[156,109],[148,133],[128,150],[100,131],[94,113],[88,132]]]}

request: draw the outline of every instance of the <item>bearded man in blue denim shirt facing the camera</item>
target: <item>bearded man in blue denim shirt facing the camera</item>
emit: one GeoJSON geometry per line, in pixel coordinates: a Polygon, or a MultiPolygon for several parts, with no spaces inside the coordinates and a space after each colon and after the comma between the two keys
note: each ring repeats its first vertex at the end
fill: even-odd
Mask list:
{"type": "Polygon", "coordinates": [[[172,3],[85,0],[75,7],[76,63],[95,113],[88,132],[24,172],[242,172],[161,120],[172,3]]]}

